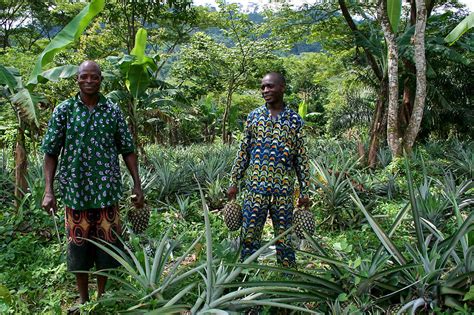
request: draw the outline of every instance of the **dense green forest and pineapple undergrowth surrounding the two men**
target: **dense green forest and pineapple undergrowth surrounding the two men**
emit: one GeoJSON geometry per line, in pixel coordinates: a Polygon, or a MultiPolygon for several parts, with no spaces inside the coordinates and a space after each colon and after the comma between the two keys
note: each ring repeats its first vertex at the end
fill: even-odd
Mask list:
{"type": "Polygon", "coordinates": [[[130,228],[122,165],[124,246],[97,244],[121,266],[91,271],[110,281],[81,313],[474,312],[474,14],[461,3],[0,3],[0,313],[76,304],[64,205],[41,208],[40,147],[85,60],[126,118],[151,217],[130,228]],[[286,78],[310,158],[316,228],[285,232],[292,269],[276,263],[270,222],[241,262],[222,211],[268,72],[286,78]]]}

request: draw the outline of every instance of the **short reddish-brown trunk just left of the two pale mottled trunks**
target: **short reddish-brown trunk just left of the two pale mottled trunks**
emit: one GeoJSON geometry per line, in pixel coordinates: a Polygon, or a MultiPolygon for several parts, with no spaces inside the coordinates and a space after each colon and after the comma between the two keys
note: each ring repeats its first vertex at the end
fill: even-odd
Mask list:
{"type": "Polygon", "coordinates": [[[377,151],[379,149],[380,139],[383,137],[384,130],[386,127],[385,103],[387,100],[387,91],[387,80],[382,80],[382,82],[380,82],[377,103],[375,105],[372,125],[370,127],[369,153],[367,155],[367,165],[370,168],[375,168],[377,164],[377,151]]]}

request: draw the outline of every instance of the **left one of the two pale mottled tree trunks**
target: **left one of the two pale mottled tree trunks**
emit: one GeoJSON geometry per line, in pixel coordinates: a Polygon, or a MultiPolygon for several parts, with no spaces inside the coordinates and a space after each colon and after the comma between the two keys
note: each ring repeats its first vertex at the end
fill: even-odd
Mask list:
{"type": "Polygon", "coordinates": [[[386,0],[381,1],[378,16],[387,43],[388,50],[388,113],[387,113],[387,143],[392,156],[400,156],[402,146],[398,129],[398,47],[395,33],[392,31],[387,16],[386,0]]]}

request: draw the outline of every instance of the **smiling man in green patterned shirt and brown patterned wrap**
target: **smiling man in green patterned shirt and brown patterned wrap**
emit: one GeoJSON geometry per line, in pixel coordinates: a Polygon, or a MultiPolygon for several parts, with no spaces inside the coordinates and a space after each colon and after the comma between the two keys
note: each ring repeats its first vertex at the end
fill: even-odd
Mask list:
{"type": "MultiPolygon", "coordinates": [[[[55,215],[54,175],[59,162],[58,186],[66,206],[68,270],[76,273],[81,303],[89,300],[88,271],[116,267],[118,263],[85,239],[102,239],[119,246],[118,201],[122,183],[121,154],[133,178],[134,204],[143,207],[137,156],[120,108],[99,93],[100,67],[93,61],[79,66],[80,92],[59,104],[49,121],[42,151],[46,190],[43,208],[55,215]],[[83,271],[83,272],[81,272],[83,271]]],[[[107,277],[97,276],[97,293],[105,290],[107,277]]]]}

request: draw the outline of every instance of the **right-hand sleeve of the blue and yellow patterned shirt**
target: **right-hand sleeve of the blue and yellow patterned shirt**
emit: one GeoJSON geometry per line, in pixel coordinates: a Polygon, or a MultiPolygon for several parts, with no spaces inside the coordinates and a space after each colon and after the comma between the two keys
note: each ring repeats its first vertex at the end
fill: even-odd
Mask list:
{"type": "Polygon", "coordinates": [[[306,136],[303,126],[302,123],[296,132],[295,142],[295,170],[298,184],[300,185],[300,198],[309,196],[309,158],[306,149],[306,136]]]}

